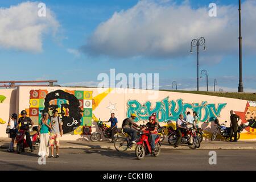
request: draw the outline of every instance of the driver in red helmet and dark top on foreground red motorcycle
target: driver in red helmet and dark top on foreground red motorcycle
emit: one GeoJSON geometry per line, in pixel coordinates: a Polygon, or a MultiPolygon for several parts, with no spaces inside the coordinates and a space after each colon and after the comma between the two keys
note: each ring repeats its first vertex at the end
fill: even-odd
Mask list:
{"type": "MultiPolygon", "coordinates": [[[[150,130],[150,137],[151,137],[151,149],[152,152],[155,151],[155,139],[157,137],[156,134],[158,134],[158,123],[155,121],[155,117],[151,115],[151,117],[148,118],[149,122],[146,124],[148,127],[148,130],[150,130]]],[[[143,130],[145,130],[146,127],[143,127],[143,130]]]]}

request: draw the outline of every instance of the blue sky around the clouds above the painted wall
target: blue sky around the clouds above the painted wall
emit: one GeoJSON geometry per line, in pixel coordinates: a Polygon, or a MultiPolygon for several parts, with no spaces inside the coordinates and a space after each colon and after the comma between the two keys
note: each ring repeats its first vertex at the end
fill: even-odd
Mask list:
{"type": "MultiPolygon", "coordinates": [[[[145,4],[139,6],[139,1],[134,0],[61,2],[51,0],[42,2],[45,3],[47,9],[52,12],[51,18],[56,20],[56,22],[59,24],[56,34],[52,35],[51,30],[46,29],[41,32],[42,35],[38,35],[39,39],[42,41],[42,47],[41,49],[39,48],[40,51],[35,51],[33,48],[23,49],[22,47],[26,46],[22,46],[22,43],[26,42],[26,40],[21,40],[22,43],[17,43],[17,47],[15,45],[6,46],[9,45],[7,44],[8,40],[1,41],[0,39],[0,80],[56,79],[59,81],[60,85],[65,86],[93,86],[97,84],[97,76],[99,73],[108,73],[110,68],[115,68],[117,73],[159,73],[159,84],[161,86],[160,88],[171,89],[171,82],[177,81],[179,89],[195,89],[196,52],[194,50],[194,53],[191,55],[189,51],[191,40],[193,38],[196,38],[198,35],[204,36],[207,42],[207,51],[200,51],[200,70],[207,69],[209,73],[209,85],[212,86],[214,78],[217,78],[217,85],[220,88],[223,88],[224,91],[237,90],[238,27],[236,24],[236,18],[238,19],[238,16],[236,15],[238,15],[238,11],[229,12],[229,10],[226,10],[229,9],[229,7],[230,10],[234,10],[235,8],[237,10],[237,1],[146,1],[146,5],[148,5],[148,10],[146,8],[143,8],[145,4]],[[151,6],[151,2],[153,2],[154,5],[151,6]],[[218,19],[217,15],[217,18],[215,20],[213,20],[213,18],[210,19],[210,21],[213,21],[212,23],[214,24],[214,27],[200,27],[200,25],[197,24],[197,26],[195,26],[195,30],[192,30],[191,27],[189,28],[189,26],[188,29],[186,29],[187,27],[185,26],[193,20],[189,20],[189,18],[186,18],[184,20],[188,21],[188,23],[183,22],[179,24],[179,21],[182,20],[180,20],[181,17],[179,15],[179,11],[183,11],[183,7],[188,6],[191,12],[195,13],[195,17],[198,17],[201,12],[204,12],[200,11],[199,9],[208,10],[208,5],[212,2],[217,4],[217,13],[218,7],[221,7],[219,15],[221,16],[221,18],[218,19]],[[129,19],[130,16],[133,16],[134,11],[142,11],[147,13],[143,14],[144,19],[142,18],[142,21],[151,19],[146,16],[150,17],[150,13],[155,12],[151,11],[151,9],[154,10],[154,8],[156,10],[164,10],[166,11],[166,15],[168,15],[168,10],[164,9],[165,7],[173,7],[174,9],[172,10],[174,13],[170,14],[170,18],[166,16],[164,16],[164,18],[166,18],[167,21],[168,19],[177,19],[177,22],[172,21],[172,23],[174,23],[173,26],[170,26],[170,24],[168,24],[168,27],[166,27],[167,24],[165,24],[165,22],[167,21],[163,20],[163,22],[161,23],[162,19],[156,19],[156,23],[159,23],[159,25],[163,29],[166,28],[167,31],[158,32],[159,29],[153,30],[155,24],[154,22],[151,24],[152,29],[150,26],[147,26],[148,24],[144,26],[147,26],[148,29],[143,29],[143,27],[140,27],[139,23],[136,24],[137,20],[141,18],[140,16],[138,16],[138,14],[134,15],[135,18],[131,18],[128,23],[125,23],[126,19],[129,19]],[[175,12],[175,9],[179,11],[175,12]],[[114,16],[113,18],[114,13],[116,13],[118,16],[114,16]],[[225,36],[223,35],[226,34],[225,28],[221,26],[225,24],[223,23],[223,21],[225,21],[227,18],[228,22],[233,22],[230,23],[226,31],[230,31],[230,34],[228,32],[225,36]],[[111,19],[114,19],[118,22],[121,21],[121,23],[115,24],[114,21],[109,21],[111,19]],[[143,41],[145,41],[145,44],[151,42],[152,40],[155,40],[155,42],[163,41],[162,39],[164,39],[164,36],[167,35],[168,38],[172,40],[170,34],[167,33],[169,29],[170,31],[174,32],[174,36],[179,36],[179,39],[175,38],[174,43],[180,40],[182,40],[182,43],[177,43],[179,44],[179,46],[177,47],[167,45],[168,48],[170,47],[170,52],[168,52],[169,50],[164,49],[166,48],[166,44],[168,44],[168,42],[166,43],[164,41],[164,43],[162,44],[164,46],[159,48],[155,47],[155,49],[159,51],[154,52],[154,49],[152,49],[153,53],[152,51],[147,52],[145,51],[146,48],[143,49],[141,52],[137,52],[136,50],[134,51],[133,49],[130,49],[130,47],[133,47],[133,44],[127,43],[127,45],[125,46],[126,41],[121,41],[122,34],[125,38],[127,35],[134,35],[134,38],[130,37],[134,40],[137,40],[138,38],[140,40],[141,34],[134,34],[133,28],[131,28],[131,32],[129,32],[129,28],[127,28],[127,31],[117,31],[117,33],[115,34],[112,31],[115,27],[118,27],[118,25],[129,27],[131,26],[131,24],[133,24],[133,26],[135,24],[135,27],[137,27],[138,30],[144,30],[144,32],[142,32],[142,34],[144,34],[143,39],[141,39],[140,41],[142,42],[142,47],[144,45],[143,41]],[[219,24],[220,26],[218,27],[219,24]],[[182,27],[185,27],[184,34],[176,31],[180,28],[182,30],[182,27]],[[196,29],[197,27],[198,30],[196,29]],[[214,28],[216,28],[216,31],[212,31],[214,28]],[[106,33],[108,32],[107,30],[110,31],[109,34],[106,33]],[[209,31],[212,31],[210,35],[207,33],[209,31]],[[97,34],[94,34],[95,32],[97,32],[97,34]],[[193,32],[195,32],[195,34],[193,32]],[[201,34],[197,34],[197,32],[201,32],[201,34]],[[214,34],[214,32],[216,32],[216,35],[212,35],[214,34]],[[152,35],[155,36],[158,34],[162,38],[161,40],[158,40],[158,36],[154,37],[154,39],[152,38],[152,35]],[[189,36],[188,34],[191,36],[189,36]],[[106,39],[103,48],[107,47],[107,51],[105,49],[102,51],[103,44],[98,42],[97,38],[101,38],[102,36],[104,36],[104,38],[106,39]],[[108,37],[106,38],[105,36],[108,37]],[[226,40],[220,38],[220,40],[216,40],[215,43],[213,40],[215,40],[219,36],[223,36],[224,38],[228,36],[228,38],[226,40]],[[91,42],[89,42],[89,40],[91,40],[91,42]],[[223,43],[222,40],[224,41],[223,43]],[[86,49],[84,49],[85,46],[86,49]],[[221,46],[223,46],[223,48],[221,46]],[[119,55],[115,52],[115,48],[119,47],[122,47],[121,50],[124,51],[124,54],[119,55]],[[173,50],[171,50],[172,48],[173,50]],[[166,56],[163,56],[163,53],[166,53],[166,56]]],[[[249,0],[242,2],[248,3],[249,0]]],[[[0,0],[1,10],[13,10],[11,6],[19,7],[20,3],[27,2],[0,0]]],[[[158,14],[159,17],[163,15],[164,14],[158,14]]],[[[202,14],[202,17],[203,16],[205,16],[205,14],[202,14]]],[[[15,19],[15,11],[12,17],[13,19],[15,19]]],[[[187,17],[189,17],[189,15],[187,17]]],[[[253,34],[251,33],[251,31],[255,30],[255,26],[250,28],[250,24],[253,24],[253,20],[251,20],[252,22],[250,23],[250,18],[247,17],[248,16],[246,16],[246,19],[244,21],[246,23],[245,28],[247,29],[246,31],[244,31],[245,33],[243,33],[243,39],[245,39],[246,41],[246,46],[243,49],[243,84],[245,87],[245,91],[255,92],[256,53],[254,53],[255,51],[253,51],[255,45],[251,43],[255,42],[255,36],[251,37],[251,34],[253,34]]],[[[243,16],[243,18],[245,17],[243,16]]],[[[38,19],[36,19],[36,21],[38,21],[38,19]]],[[[49,21],[50,20],[46,20],[44,23],[48,24],[49,21]]],[[[201,21],[203,23],[207,22],[207,20],[203,18],[201,19],[201,21]]],[[[143,26],[143,22],[141,24],[143,26]]],[[[28,23],[28,26],[31,26],[31,24],[28,23]]],[[[55,23],[52,23],[52,25],[49,27],[55,27],[55,23]]],[[[0,32],[6,31],[4,30],[4,28],[6,27],[2,27],[3,30],[1,30],[0,26],[0,32]]],[[[127,36],[126,39],[123,38],[123,40],[129,40],[129,36],[127,36]]],[[[135,44],[137,43],[134,43],[134,45],[135,44]]],[[[152,44],[154,44],[155,46],[155,43],[152,44]]],[[[200,79],[200,87],[203,86],[205,86],[205,79],[200,79]]],[[[205,90],[205,88],[201,88],[201,90],[203,89],[205,90]]],[[[212,88],[210,88],[210,90],[211,89],[212,88]]]]}

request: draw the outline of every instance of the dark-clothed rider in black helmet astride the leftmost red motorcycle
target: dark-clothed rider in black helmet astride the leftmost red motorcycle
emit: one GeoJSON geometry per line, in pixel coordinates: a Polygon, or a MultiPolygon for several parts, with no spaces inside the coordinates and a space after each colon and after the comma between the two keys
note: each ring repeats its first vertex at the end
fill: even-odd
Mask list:
{"type": "MultiPolygon", "coordinates": [[[[31,120],[30,117],[26,116],[27,115],[26,110],[22,110],[20,112],[20,114],[22,115],[22,117],[20,117],[19,120],[18,120],[18,126],[21,125],[21,127],[26,130],[26,132],[25,132],[26,141],[27,141],[28,146],[30,146],[31,152],[33,152],[32,142],[31,142],[31,139],[30,139],[29,125],[31,125],[31,127],[33,127],[34,122],[31,120]]],[[[23,145],[23,150],[22,151],[24,151],[24,145],[23,145]]]]}

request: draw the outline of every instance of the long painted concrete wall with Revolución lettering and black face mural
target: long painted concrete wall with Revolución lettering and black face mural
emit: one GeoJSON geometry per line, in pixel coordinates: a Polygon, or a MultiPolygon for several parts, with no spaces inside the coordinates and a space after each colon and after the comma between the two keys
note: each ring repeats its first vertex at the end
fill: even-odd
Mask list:
{"type": "MultiPolygon", "coordinates": [[[[242,118],[256,117],[256,102],[232,98],[204,96],[200,94],[134,90],[134,89],[97,89],[97,88],[58,88],[58,87],[20,87],[17,90],[1,89],[0,96],[6,97],[0,102],[0,118],[7,121],[14,111],[26,109],[31,119],[40,122],[40,111],[48,111],[49,107],[58,107],[62,111],[63,126],[67,134],[63,139],[75,140],[82,137],[82,129],[86,127],[92,132],[96,130],[93,120],[106,121],[114,112],[118,118],[118,127],[123,119],[131,113],[137,113],[138,123],[146,122],[148,115],[159,113],[160,125],[168,121],[176,121],[180,113],[197,111],[200,118],[199,126],[206,133],[215,129],[213,118],[218,117],[220,123],[228,121],[229,111],[234,110],[242,118]],[[62,106],[62,107],[61,107],[62,106]]],[[[241,121],[239,122],[239,124],[241,121]]],[[[0,137],[5,134],[6,123],[0,124],[0,137]]],[[[241,139],[256,140],[256,129],[247,127],[241,139]]]]}

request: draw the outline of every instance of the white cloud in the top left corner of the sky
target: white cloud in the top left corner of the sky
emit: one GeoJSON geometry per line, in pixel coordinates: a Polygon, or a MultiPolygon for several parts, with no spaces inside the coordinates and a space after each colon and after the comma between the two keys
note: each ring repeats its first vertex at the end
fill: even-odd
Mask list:
{"type": "MultiPolygon", "coordinates": [[[[46,9],[46,17],[39,17],[39,2],[23,2],[0,8],[0,47],[20,51],[42,51],[43,35],[53,36],[59,28],[55,15],[46,9]]],[[[47,5],[46,5],[47,7],[47,5]]]]}

